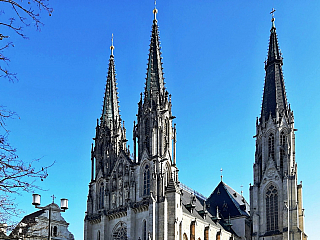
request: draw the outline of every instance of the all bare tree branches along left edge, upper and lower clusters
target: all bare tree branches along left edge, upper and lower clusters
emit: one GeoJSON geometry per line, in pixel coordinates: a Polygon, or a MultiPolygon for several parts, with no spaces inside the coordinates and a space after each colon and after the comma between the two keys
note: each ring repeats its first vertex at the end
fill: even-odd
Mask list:
{"type": "MultiPolygon", "coordinates": [[[[0,0],[0,78],[14,82],[17,75],[8,70],[10,58],[5,52],[14,44],[10,35],[27,38],[24,28],[33,25],[40,30],[43,25],[40,16],[51,16],[53,9],[49,0],[0,0]]],[[[9,130],[6,121],[17,115],[0,105],[0,223],[10,226],[10,218],[20,214],[14,196],[23,191],[32,192],[38,188],[36,179],[43,180],[47,174],[46,167],[35,167],[39,159],[26,162],[19,158],[16,149],[8,141],[9,130]]]]}

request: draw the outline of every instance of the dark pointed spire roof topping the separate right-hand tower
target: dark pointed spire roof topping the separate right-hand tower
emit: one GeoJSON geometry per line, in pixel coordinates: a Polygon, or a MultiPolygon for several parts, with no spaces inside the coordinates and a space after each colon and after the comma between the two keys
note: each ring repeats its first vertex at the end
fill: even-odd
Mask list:
{"type": "Polygon", "coordinates": [[[280,116],[283,116],[287,114],[288,110],[286,90],[282,74],[283,61],[278,45],[274,12],[275,10],[273,9],[271,11],[272,26],[270,30],[268,59],[265,62],[266,77],[261,109],[261,119],[266,121],[269,119],[270,115],[275,118],[277,116],[277,111],[280,116]]]}

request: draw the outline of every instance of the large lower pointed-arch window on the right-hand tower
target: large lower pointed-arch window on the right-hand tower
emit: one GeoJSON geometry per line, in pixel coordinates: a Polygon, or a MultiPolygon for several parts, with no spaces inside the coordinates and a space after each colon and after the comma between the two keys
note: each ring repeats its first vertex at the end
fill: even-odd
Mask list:
{"type": "Polygon", "coordinates": [[[267,231],[278,230],[278,190],[271,184],[266,192],[267,231]]]}

